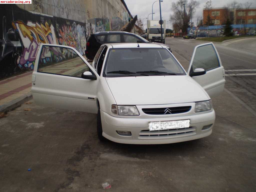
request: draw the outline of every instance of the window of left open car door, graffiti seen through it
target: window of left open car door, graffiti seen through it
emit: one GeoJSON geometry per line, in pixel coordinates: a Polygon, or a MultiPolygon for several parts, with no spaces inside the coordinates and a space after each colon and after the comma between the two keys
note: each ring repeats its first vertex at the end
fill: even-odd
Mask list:
{"type": "Polygon", "coordinates": [[[81,78],[85,71],[89,67],[73,49],[42,46],[37,72],[81,78]]]}

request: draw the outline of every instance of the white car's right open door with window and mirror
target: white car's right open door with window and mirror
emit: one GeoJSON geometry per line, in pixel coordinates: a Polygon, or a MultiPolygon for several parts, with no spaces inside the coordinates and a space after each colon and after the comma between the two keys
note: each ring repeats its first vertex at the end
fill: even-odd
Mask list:
{"type": "Polygon", "coordinates": [[[210,97],[219,95],[224,89],[225,69],[212,42],[195,47],[188,73],[210,97]]]}

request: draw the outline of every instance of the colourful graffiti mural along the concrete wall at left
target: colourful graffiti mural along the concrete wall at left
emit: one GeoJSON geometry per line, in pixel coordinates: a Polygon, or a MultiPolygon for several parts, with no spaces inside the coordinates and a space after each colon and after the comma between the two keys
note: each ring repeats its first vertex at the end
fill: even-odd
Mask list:
{"type": "MultiPolygon", "coordinates": [[[[55,10],[58,7],[56,1],[53,3],[55,10]]],[[[0,30],[3,31],[3,36],[0,35],[0,65],[2,68],[0,78],[20,70],[33,70],[40,43],[71,46],[84,55],[86,42],[91,34],[98,31],[120,30],[130,17],[127,11],[116,7],[112,8],[113,13],[110,17],[101,16],[102,9],[97,8],[99,13],[96,15],[99,18],[92,18],[90,10],[87,10],[85,12],[87,18],[82,23],[65,19],[68,18],[66,17],[68,13],[64,9],[65,13],[61,12],[61,15],[64,14],[65,18],[62,18],[47,12],[46,9],[43,9],[44,6],[40,0],[35,0],[32,12],[17,5],[14,5],[15,8],[7,7],[8,10],[5,7],[0,8],[2,9],[0,16],[3,18],[3,24],[0,26],[0,30]]],[[[100,6],[102,6],[101,3],[100,6]]],[[[63,58],[63,53],[61,54],[59,50],[49,48],[41,54],[41,59],[45,63],[50,60],[58,61],[63,58]],[[56,55],[56,57],[52,57],[52,55],[56,55]]]]}

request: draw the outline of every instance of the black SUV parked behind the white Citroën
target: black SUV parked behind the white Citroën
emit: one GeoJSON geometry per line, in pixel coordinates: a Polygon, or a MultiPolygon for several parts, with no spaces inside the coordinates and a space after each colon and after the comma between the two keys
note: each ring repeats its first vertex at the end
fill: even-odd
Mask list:
{"type": "MultiPolygon", "coordinates": [[[[93,60],[98,49],[104,43],[151,43],[150,41],[138,36],[134,33],[128,33],[125,31],[103,31],[96,32],[91,34],[87,43],[86,43],[86,51],[85,56],[93,60]]],[[[156,43],[161,44],[161,43],[156,43]]],[[[166,44],[161,44],[162,46],[166,46],[167,49],[170,50],[170,47],[166,44]]],[[[171,51],[171,50],[170,50],[171,51]]],[[[172,51],[171,51],[172,52],[172,51]]]]}

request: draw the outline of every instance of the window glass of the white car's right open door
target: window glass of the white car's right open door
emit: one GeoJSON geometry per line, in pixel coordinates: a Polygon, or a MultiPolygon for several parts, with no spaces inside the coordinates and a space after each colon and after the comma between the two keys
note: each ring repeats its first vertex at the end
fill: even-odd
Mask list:
{"type": "Polygon", "coordinates": [[[208,44],[197,47],[191,69],[202,68],[205,71],[209,71],[217,67],[220,67],[220,62],[213,45],[208,44]]]}

